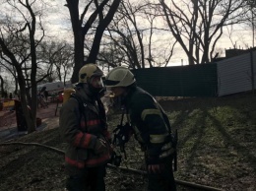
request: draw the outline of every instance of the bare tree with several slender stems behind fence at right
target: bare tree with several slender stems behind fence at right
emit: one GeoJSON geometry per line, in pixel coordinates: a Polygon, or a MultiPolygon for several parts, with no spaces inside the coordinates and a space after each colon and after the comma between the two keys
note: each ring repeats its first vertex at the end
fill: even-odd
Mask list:
{"type": "Polygon", "coordinates": [[[189,65],[211,61],[224,27],[241,22],[244,6],[244,0],[160,0],[167,26],[189,65]]]}

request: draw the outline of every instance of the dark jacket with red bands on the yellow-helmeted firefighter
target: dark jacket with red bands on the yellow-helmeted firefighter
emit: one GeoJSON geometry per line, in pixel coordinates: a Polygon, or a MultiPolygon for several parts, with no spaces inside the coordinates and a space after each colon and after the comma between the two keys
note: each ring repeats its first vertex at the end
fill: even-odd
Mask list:
{"type": "Polygon", "coordinates": [[[76,94],[60,110],[59,125],[67,142],[65,163],[70,175],[82,172],[85,167],[104,164],[110,159],[110,146],[99,156],[94,153],[96,139],[109,139],[104,108],[99,98],[77,88],[76,94]]]}

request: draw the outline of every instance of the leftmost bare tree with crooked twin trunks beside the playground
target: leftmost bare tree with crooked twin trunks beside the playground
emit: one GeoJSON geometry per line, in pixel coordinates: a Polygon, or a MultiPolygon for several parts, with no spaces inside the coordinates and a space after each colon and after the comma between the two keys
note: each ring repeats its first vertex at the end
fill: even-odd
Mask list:
{"type": "Polygon", "coordinates": [[[6,0],[1,6],[10,10],[1,21],[0,56],[17,72],[23,113],[31,133],[35,130],[36,118],[36,47],[45,36],[41,17],[46,5],[40,0],[6,0]]]}

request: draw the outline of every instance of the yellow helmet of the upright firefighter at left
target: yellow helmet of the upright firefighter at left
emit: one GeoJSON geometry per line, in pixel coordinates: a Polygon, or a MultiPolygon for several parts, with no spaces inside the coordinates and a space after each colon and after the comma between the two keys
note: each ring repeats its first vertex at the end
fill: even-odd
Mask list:
{"type": "Polygon", "coordinates": [[[96,66],[90,63],[83,66],[79,71],[79,83],[90,83],[92,77],[102,77],[103,72],[96,66]]]}

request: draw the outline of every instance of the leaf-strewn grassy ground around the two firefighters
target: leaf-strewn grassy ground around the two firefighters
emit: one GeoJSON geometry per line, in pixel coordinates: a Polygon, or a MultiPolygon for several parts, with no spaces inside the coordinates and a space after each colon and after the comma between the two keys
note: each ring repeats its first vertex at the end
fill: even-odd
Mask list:
{"type": "MultiPolygon", "coordinates": [[[[225,108],[225,104],[230,106],[234,100],[232,98],[230,100],[231,103],[225,103],[224,99],[220,102],[216,99],[161,101],[161,105],[167,110],[173,121],[172,126],[183,128],[180,129],[178,171],[174,172],[175,179],[180,181],[178,182],[178,191],[256,190],[256,130],[254,123],[256,112],[253,106],[254,104],[252,104],[256,102],[256,98],[254,97],[248,103],[244,103],[244,101],[247,101],[246,97],[243,97],[242,100],[237,99],[239,100],[238,110],[246,107],[247,110],[242,111],[242,113],[246,112],[248,116],[252,117],[246,119],[241,118],[241,124],[244,123],[247,125],[248,121],[250,121],[252,125],[246,126],[245,129],[236,128],[232,131],[227,131],[228,127],[241,126],[241,124],[234,124],[234,121],[238,117],[227,117],[229,120],[222,122],[226,124],[223,125],[224,129],[221,129],[217,118],[222,118],[222,115],[219,116],[218,111],[223,105],[225,108]],[[202,113],[200,112],[200,117],[201,115],[205,117],[206,113],[209,112],[205,109],[206,104],[215,106],[212,111],[216,118],[211,118],[214,123],[209,125],[210,131],[214,132],[215,130],[211,130],[214,127],[219,132],[222,132],[226,140],[220,142],[219,138],[214,137],[212,134],[211,137],[204,135],[202,131],[207,128],[202,125],[201,121],[198,121],[199,125],[195,124],[196,127],[200,128],[187,129],[190,124],[188,125],[186,123],[195,118],[198,114],[197,112],[202,111],[202,113]],[[184,105],[185,107],[180,108],[180,105],[184,105]],[[178,115],[177,112],[181,114],[178,115]],[[199,130],[200,132],[198,132],[199,130]],[[213,143],[216,144],[211,146],[211,150],[203,142],[203,135],[208,141],[214,141],[213,143]],[[197,140],[198,137],[201,139],[197,140]],[[239,140],[239,143],[236,140],[239,140]],[[186,182],[183,181],[195,183],[196,185],[190,187],[185,185],[186,182]],[[198,184],[205,187],[199,188],[197,186],[198,184]]],[[[46,124],[45,128],[26,136],[16,136],[8,142],[0,142],[0,191],[65,190],[66,176],[63,164],[64,156],[62,153],[65,143],[60,136],[58,116],[54,116],[54,106],[40,111],[43,121],[42,124],[46,124]],[[18,143],[16,145],[3,145],[10,142],[18,143]],[[25,146],[21,143],[32,143],[32,145],[25,146]],[[60,151],[46,149],[34,143],[53,147],[60,151]]],[[[231,106],[234,107],[234,105],[231,106]]],[[[204,118],[205,123],[209,120],[209,116],[207,116],[208,118],[204,118]]],[[[120,115],[109,116],[109,125],[115,126],[119,122],[119,118],[120,115]]],[[[140,173],[145,170],[143,154],[133,138],[126,146],[126,153],[128,154],[128,158],[123,159],[123,168],[132,168],[139,171],[107,167],[105,177],[106,191],[146,190],[147,177],[140,173]]]]}

